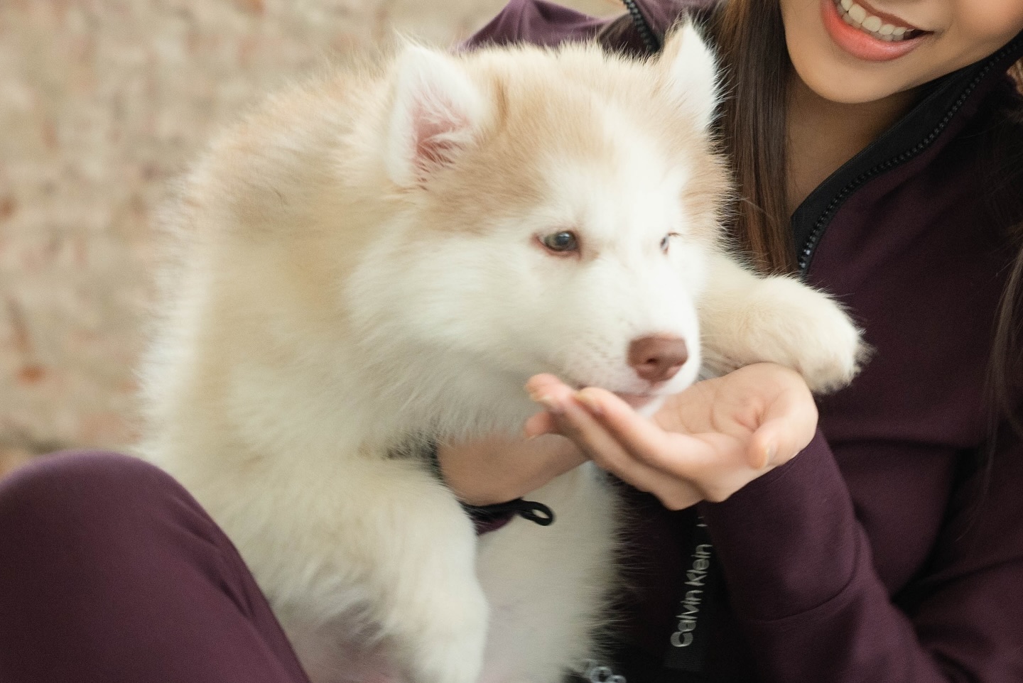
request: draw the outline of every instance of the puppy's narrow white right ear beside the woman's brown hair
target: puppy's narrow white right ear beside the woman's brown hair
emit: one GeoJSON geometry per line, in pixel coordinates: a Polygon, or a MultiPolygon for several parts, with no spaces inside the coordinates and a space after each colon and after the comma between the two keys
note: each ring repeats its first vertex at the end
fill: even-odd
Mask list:
{"type": "Polygon", "coordinates": [[[706,129],[719,101],[717,60],[692,21],[671,31],[660,62],[671,96],[701,129],[706,129]]]}

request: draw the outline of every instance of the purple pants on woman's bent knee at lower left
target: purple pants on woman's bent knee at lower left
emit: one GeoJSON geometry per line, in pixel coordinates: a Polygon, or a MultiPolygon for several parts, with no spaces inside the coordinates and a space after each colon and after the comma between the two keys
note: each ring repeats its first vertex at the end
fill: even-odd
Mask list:
{"type": "Polygon", "coordinates": [[[0,482],[3,683],[308,683],[224,533],[140,460],[68,453],[0,482]]]}

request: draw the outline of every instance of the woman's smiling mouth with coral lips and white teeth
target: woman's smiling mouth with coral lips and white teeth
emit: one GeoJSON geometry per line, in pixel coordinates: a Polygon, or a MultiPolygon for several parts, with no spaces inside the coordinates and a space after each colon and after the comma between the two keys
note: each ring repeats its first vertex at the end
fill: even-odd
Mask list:
{"type": "Polygon", "coordinates": [[[825,29],[843,50],[864,61],[889,61],[915,50],[931,33],[862,4],[820,0],[825,29]],[[846,9],[846,6],[849,9],[846,9]]]}

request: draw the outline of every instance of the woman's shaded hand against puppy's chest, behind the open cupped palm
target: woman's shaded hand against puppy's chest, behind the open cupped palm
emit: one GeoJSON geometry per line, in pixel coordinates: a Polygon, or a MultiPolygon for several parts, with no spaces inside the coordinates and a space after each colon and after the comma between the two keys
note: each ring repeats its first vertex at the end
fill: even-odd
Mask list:
{"type": "Polygon", "coordinates": [[[586,461],[568,439],[493,437],[437,448],[444,482],[463,503],[492,505],[525,496],[586,461]]]}

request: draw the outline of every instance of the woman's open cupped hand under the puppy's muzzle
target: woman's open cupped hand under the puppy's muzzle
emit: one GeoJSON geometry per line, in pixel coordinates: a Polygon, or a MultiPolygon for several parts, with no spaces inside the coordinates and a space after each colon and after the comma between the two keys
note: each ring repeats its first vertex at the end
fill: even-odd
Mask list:
{"type": "Polygon", "coordinates": [[[546,408],[530,436],[561,434],[602,468],[670,509],[722,501],[809,444],[817,410],[793,370],[758,363],[669,397],[653,418],[602,389],[573,391],[553,375],[526,385],[546,408]]]}

